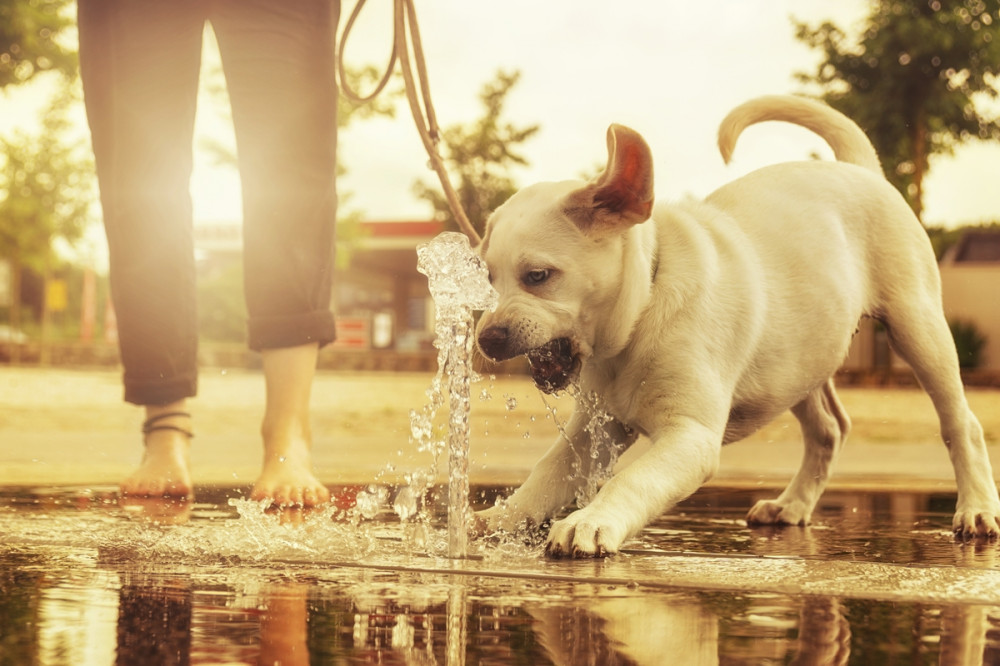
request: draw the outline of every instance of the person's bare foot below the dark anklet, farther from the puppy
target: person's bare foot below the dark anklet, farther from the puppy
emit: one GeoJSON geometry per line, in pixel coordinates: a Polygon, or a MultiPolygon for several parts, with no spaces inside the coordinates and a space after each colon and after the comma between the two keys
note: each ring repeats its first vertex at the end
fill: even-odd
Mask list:
{"type": "Polygon", "coordinates": [[[122,495],[190,497],[189,448],[190,441],[183,433],[173,430],[149,433],[139,468],[121,483],[122,495]]]}

